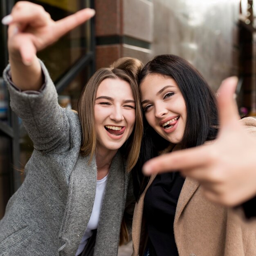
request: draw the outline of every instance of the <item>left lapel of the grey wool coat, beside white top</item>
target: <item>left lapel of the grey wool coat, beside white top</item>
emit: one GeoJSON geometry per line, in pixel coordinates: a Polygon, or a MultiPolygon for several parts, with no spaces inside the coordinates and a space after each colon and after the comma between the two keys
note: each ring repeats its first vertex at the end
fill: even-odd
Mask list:
{"type": "Polygon", "coordinates": [[[96,193],[97,166],[95,159],[88,165],[89,156],[79,155],[70,175],[65,216],[59,238],[64,245],[60,255],[75,255],[88,225],[96,193]]]}

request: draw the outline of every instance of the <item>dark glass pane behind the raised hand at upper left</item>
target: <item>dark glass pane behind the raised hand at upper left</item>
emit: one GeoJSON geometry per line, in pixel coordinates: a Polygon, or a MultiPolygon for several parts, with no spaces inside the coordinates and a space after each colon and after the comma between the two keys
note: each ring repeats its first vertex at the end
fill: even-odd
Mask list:
{"type": "MultiPolygon", "coordinates": [[[[30,1],[42,5],[50,13],[53,20],[60,20],[66,16],[90,7],[89,1],[81,0],[41,0],[30,1]]],[[[90,21],[73,29],[58,42],[38,53],[38,57],[45,63],[52,80],[58,82],[63,74],[90,50],[90,21]]]]}

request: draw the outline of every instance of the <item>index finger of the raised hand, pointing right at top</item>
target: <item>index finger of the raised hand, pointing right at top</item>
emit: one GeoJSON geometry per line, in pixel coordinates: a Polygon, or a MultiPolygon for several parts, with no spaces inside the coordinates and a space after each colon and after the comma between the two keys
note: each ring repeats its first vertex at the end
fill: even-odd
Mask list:
{"type": "Polygon", "coordinates": [[[54,34],[56,37],[61,37],[68,31],[74,29],[75,27],[83,24],[85,21],[89,20],[95,15],[95,10],[90,8],[85,8],[81,11],[67,16],[61,20],[55,22],[56,31],[54,34]]]}

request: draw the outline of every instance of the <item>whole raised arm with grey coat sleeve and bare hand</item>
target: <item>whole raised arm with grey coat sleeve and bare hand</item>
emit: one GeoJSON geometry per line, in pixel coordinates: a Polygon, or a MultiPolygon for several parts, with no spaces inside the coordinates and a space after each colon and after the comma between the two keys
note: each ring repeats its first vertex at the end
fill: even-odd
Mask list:
{"type": "Polygon", "coordinates": [[[2,20],[9,25],[10,66],[3,76],[8,84],[11,108],[22,119],[37,150],[65,151],[70,141],[70,119],[69,113],[58,105],[55,86],[43,63],[36,58],[36,52],[93,15],[94,10],[83,9],[55,22],[40,5],[19,1],[2,20]]]}

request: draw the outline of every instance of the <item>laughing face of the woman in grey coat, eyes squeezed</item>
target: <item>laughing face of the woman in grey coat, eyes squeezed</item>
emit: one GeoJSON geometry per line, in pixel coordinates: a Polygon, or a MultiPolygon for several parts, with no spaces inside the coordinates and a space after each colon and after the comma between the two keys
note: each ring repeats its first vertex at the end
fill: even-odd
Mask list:
{"type": "Polygon", "coordinates": [[[97,148],[117,150],[131,135],[135,124],[135,100],[128,82],[104,79],[94,104],[97,148]]]}

